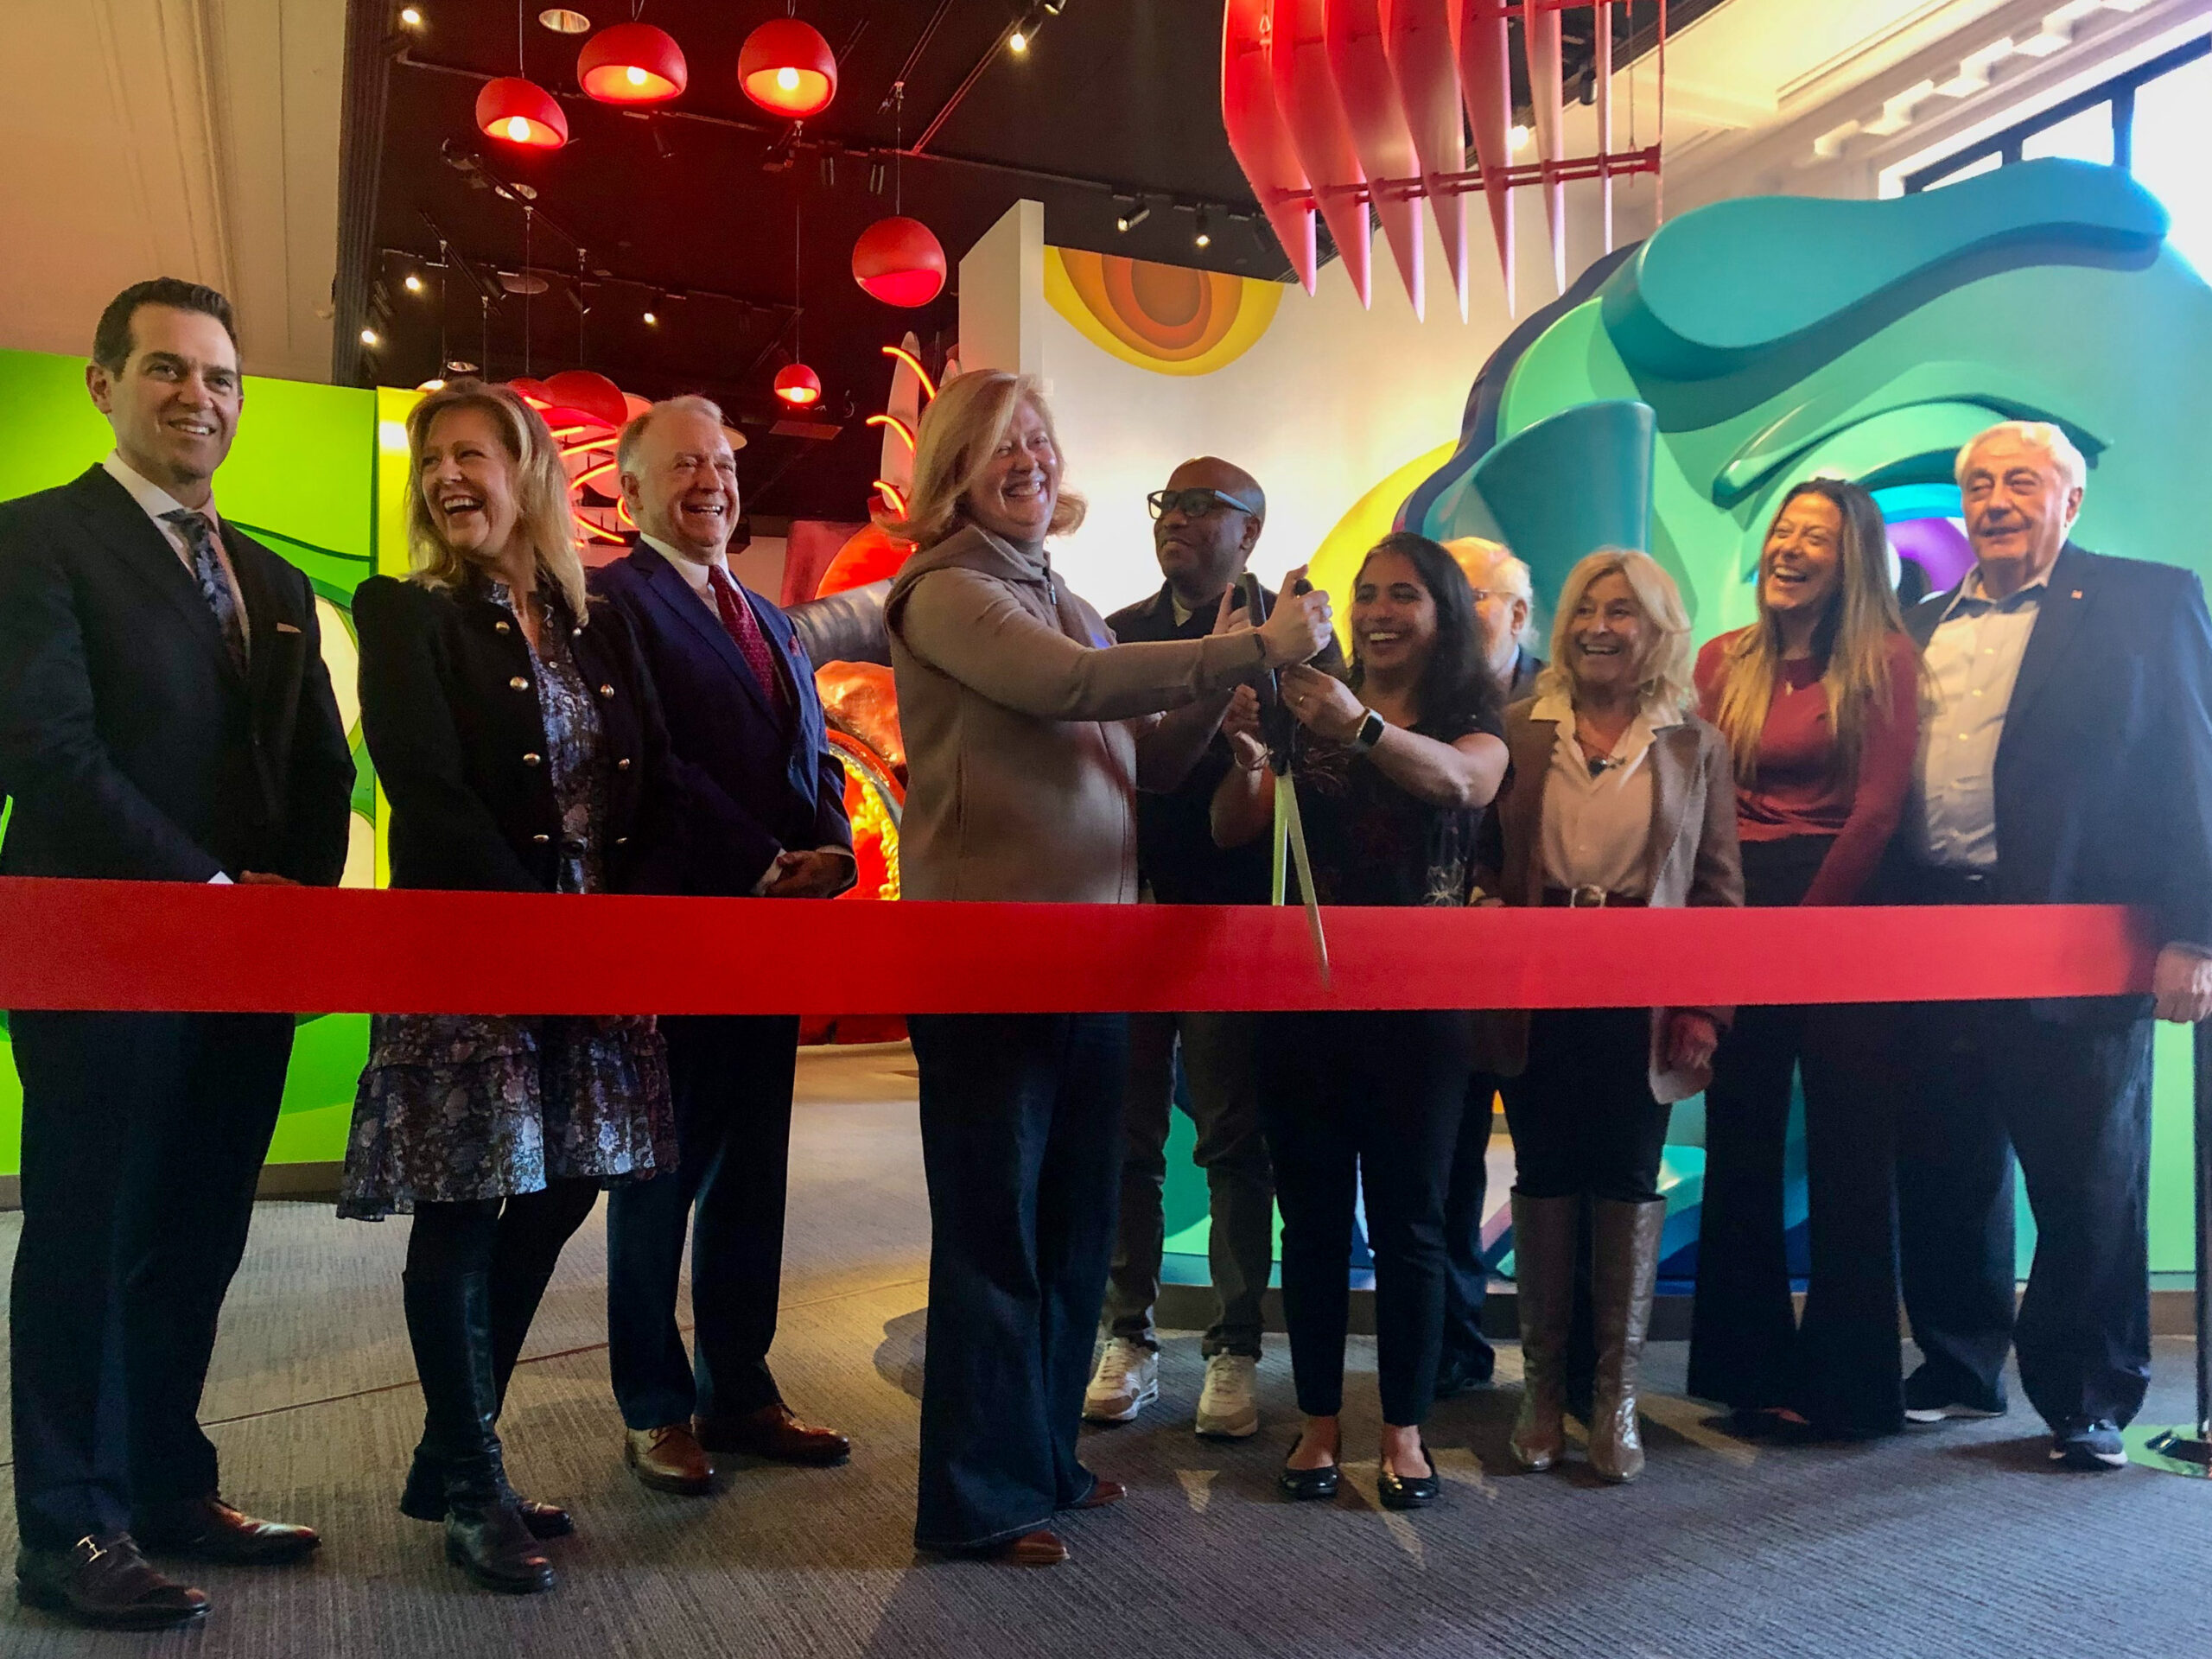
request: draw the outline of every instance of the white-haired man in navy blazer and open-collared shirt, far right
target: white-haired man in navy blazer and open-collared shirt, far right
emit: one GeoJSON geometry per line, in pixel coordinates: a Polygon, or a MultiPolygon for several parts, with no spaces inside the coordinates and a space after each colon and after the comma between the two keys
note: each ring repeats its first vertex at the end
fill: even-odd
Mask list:
{"type": "Polygon", "coordinates": [[[2066,1469],[2126,1462],[2150,1380],[2150,1015],[2212,1013],[2212,619],[2188,571],[2066,540],[2086,467],[2051,425],[1958,458],[1975,566],[1907,628],[1933,695],[1887,872],[1929,905],[2139,905],[2150,998],[1905,1015],[1905,1416],[2006,1409],[2006,1347],[2066,1469]],[[2037,1245],[2013,1307],[2013,1155],[2037,1245]]]}

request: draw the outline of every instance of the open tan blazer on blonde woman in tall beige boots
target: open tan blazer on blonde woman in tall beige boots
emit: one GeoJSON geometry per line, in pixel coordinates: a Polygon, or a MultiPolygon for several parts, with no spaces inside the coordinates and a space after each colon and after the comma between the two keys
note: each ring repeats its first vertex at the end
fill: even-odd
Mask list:
{"type": "MultiPolygon", "coordinates": [[[[1493,832],[1489,847],[1493,869],[1478,880],[1506,905],[1544,902],[1544,779],[1559,726],[1535,717],[1535,699],[1506,710],[1504,787],[1491,805],[1493,832]]],[[[1652,770],[1652,836],[1650,836],[1650,902],[1741,905],[1743,858],[1736,849],[1736,779],[1728,757],[1728,739],[1712,726],[1686,714],[1674,726],[1652,732],[1646,761],[1652,770]]],[[[1666,1071],[1659,1060],[1663,1009],[1652,1009],[1650,1084],[1659,1102],[1688,1099],[1712,1082],[1712,1071],[1666,1071]]],[[[1730,1009],[1708,1009],[1728,1024],[1730,1009]]],[[[1484,1048],[1495,1071],[1517,1077],[1528,1057],[1528,1013],[1509,1011],[1484,1020],[1484,1048]]]]}

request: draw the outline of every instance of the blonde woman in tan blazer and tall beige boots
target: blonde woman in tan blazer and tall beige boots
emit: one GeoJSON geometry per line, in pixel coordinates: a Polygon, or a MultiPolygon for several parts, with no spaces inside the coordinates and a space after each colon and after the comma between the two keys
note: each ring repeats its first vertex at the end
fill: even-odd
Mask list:
{"type": "MultiPolygon", "coordinates": [[[[1551,666],[1506,710],[1482,885],[1506,905],[1741,905],[1728,739],[1690,712],[1690,617],[1644,553],[1582,560],[1559,593],[1551,666]]],[[[1666,1199],[1659,1155],[1677,1099],[1712,1079],[1725,1009],[1544,1009],[1500,1015],[1513,1133],[1513,1283],[1522,1383],[1513,1455],[1566,1451],[1566,1340],[1584,1206],[1595,1239],[1590,1469],[1644,1471],[1637,1367],[1666,1199]]]]}

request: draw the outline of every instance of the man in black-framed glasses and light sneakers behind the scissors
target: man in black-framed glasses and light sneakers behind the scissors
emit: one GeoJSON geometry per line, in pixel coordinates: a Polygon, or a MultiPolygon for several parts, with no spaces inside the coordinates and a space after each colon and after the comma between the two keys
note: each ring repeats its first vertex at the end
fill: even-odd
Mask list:
{"type": "MultiPolygon", "coordinates": [[[[1214,626],[1267,518],[1259,482],[1225,460],[1201,456],[1146,498],[1152,551],[1166,577],[1150,599],[1106,622],[1119,641],[1201,639],[1214,626]]],[[[1230,595],[1232,608],[1243,604],[1230,595]]],[[[1217,737],[1172,794],[1137,801],[1137,874],[1161,905],[1267,902],[1267,843],[1217,847],[1208,823],[1214,787],[1230,765],[1217,737]]],[[[1168,1179],[1170,1104],[1181,1099],[1199,1128],[1206,1170],[1212,1272],[1219,1312],[1206,1332],[1206,1389],[1197,1431],[1241,1440],[1259,1429],[1254,1367],[1261,1296],[1274,1261],[1274,1177],[1259,1130],[1259,1071],[1252,1020],[1239,1013],[1139,1013],[1130,1018],[1121,1232],[1106,1285],[1106,1347],[1084,1416],[1128,1422],[1159,1398],[1159,1298],[1164,1250],[1161,1186],[1168,1179]],[[1177,1064],[1181,1060],[1181,1064],[1177,1064]],[[1177,1088],[1177,1073],[1186,1088],[1177,1088]]]]}

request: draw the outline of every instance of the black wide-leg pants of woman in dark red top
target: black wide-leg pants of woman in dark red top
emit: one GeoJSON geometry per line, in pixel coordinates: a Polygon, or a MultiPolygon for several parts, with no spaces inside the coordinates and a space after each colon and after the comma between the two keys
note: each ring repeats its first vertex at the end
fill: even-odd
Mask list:
{"type": "MultiPolygon", "coordinates": [[[[1743,843],[1745,902],[1801,902],[1832,841],[1743,843]]],[[[1905,1425],[1893,1026],[1891,1009],[1863,1004],[1736,1011],[1705,1091],[1690,1394],[1790,1407],[1843,1436],[1905,1425]],[[1783,1225],[1794,1075],[1805,1091],[1812,1243],[1803,1327],[1783,1225]]]]}

